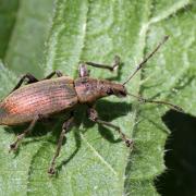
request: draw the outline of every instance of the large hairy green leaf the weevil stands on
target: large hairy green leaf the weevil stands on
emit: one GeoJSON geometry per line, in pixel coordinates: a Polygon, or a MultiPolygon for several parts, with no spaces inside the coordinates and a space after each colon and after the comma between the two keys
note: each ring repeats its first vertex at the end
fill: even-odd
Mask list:
{"type": "MultiPolygon", "coordinates": [[[[40,15],[45,15],[45,5],[38,9],[42,11],[40,15]]],[[[51,9],[49,5],[47,8],[51,9]]],[[[24,8],[23,17],[28,16],[25,11],[24,8]]],[[[196,12],[192,1],[58,0],[46,45],[45,61],[40,69],[38,62],[41,62],[41,54],[38,53],[34,59],[23,40],[23,36],[29,35],[28,30],[22,30],[23,17],[17,19],[19,26],[14,29],[5,59],[11,59],[10,62],[16,64],[24,57],[27,62],[34,62],[33,66],[22,63],[22,66],[9,68],[16,73],[21,73],[23,69],[34,71],[39,76],[60,70],[66,75],[77,77],[79,61],[109,64],[119,54],[123,62],[119,72],[109,73],[90,68],[90,74],[122,83],[162,37],[169,35],[168,42],[128,83],[127,90],[147,98],[168,100],[181,106],[185,112],[195,114],[196,98],[193,91],[196,86],[196,27],[193,21],[196,12]],[[23,35],[20,33],[19,36],[20,29],[23,35]],[[15,48],[23,56],[16,57],[12,52],[16,51],[14,41],[21,44],[20,48],[15,48]],[[45,72],[41,73],[42,70],[45,72]]],[[[42,28],[46,28],[46,23],[44,24],[42,28]]],[[[33,27],[34,24],[29,26],[33,27]]],[[[39,42],[42,39],[39,33],[35,42],[30,39],[29,42],[34,46],[32,52],[38,52],[37,48],[44,46],[39,42]]],[[[3,97],[14,86],[16,78],[3,65],[0,69],[0,82],[8,85],[1,86],[0,95],[3,97]]],[[[75,113],[76,126],[66,136],[57,162],[58,174],[53,177],[48,176],[47,169],[56,150],[63,120],[49,126],[36,126],[35,134],[24,140],[16,156],[8,154],[8,146],[14,139],[13,133],[22,132],[23,128],[0,127],[2,195],[158,194],[154,180],[166,169],[164,143],[170,133],[161,117],[169,109],[163,106],[140,105],[132,97],[109,97],[97,102],[100,118],[119,125],[134,139],[133,150],[119,139],[118,133],[90,123],[84,110],[85,108],[81,108],[75,113]]]]}

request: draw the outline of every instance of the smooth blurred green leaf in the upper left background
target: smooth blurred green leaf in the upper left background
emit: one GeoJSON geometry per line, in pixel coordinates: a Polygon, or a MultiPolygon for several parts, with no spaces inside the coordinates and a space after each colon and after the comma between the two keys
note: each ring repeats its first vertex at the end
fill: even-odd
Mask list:
{"type": "MultiPolygon", "coordinates": [[[[11,0],[12,4],[14,4],[13,1],[15,0],[11,0]]],[[[3,4],[9,7],[10,1],[5,1],[3,4]]],[[[40,77],[42,76],[44,42],[50,27],[51,19],[49,20],[49,17],[53,15],[53,0],[20,0],[17,7],[17,10],[15,10],[17,13],[14,13],[14,20],[16,21],[14,26],[11,32],[4,29],[4,34],[11,34],[11,36],[9,42],[2,40],[2,44],[7,42],[9,45],[3,59],[5,65],[16,74],[30,72],[40,77]]],[[[4,15],[13,15],[8,9],[3,11],[4,15]]]]}

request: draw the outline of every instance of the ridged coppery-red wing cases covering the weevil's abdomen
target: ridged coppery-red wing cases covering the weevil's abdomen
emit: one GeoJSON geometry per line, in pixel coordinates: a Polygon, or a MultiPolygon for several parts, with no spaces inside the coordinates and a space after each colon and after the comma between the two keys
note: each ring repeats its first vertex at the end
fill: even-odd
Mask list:
{"type": "Polygon", "coordinates": [[[40,81],[11,93],[0,103],[0,124],[14,125],[36,115],[50,115],[77,103],[74,81],[69,76],[40,81]]]}

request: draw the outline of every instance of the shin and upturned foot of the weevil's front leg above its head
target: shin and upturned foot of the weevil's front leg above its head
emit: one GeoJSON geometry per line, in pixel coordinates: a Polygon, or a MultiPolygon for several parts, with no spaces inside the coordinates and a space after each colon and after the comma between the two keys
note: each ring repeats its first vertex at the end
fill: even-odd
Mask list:
{"type": "Polygon", "coordinates": [[[90,65],[90,66],[95,66],[95,68],[100,68],[100,69],[106,69],[109,71],[114,71],[119,68],[121,63],[121,59],[119,56],[114,57],[113,63],[111,65],[107,65],[107,64],[99,64],[99,63],[95,63],[95,62],[84,62],[84,64],[86,65],[90,65]]]}

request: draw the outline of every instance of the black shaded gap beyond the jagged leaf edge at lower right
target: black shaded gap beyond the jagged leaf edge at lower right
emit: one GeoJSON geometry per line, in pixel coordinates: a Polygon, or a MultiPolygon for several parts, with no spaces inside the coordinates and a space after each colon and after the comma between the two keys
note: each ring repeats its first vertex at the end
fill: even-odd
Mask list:
{"type": "Polygon", "coordinates": [[[171,131],[166,144],[167,171],[155,182],[167,196],[196,194],[196,118],[170,110],[162,120],[171,131]]]}

